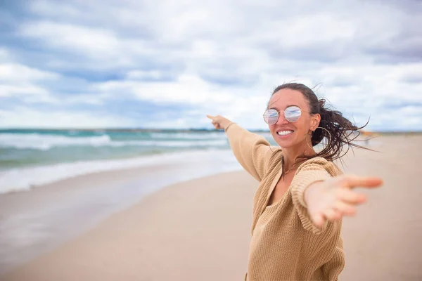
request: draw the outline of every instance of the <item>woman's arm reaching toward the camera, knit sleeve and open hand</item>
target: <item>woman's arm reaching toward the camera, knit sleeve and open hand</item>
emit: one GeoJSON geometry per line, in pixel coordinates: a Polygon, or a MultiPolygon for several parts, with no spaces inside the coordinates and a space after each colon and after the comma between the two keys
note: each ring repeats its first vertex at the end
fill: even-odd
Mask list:
{"type": "Polygon", "coordinates": [[[353,216],[356,206],[366,202],[366,196],[352,188],[375,188],[383,182],[381,178],[339,175],[332,162],[323,158],[313,160],[298,170],[291,192],[302,226],[319,234],[328,221],[353,216]]]}

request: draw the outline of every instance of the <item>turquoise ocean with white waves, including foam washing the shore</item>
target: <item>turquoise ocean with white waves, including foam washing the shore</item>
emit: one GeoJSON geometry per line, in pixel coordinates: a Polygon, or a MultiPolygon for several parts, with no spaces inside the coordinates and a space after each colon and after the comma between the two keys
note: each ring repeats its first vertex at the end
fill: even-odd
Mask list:
{"type": "MultiPolygon", "coordinates": [[[[261,133],[274,143],[269,133],[261,133]]],[[[229,150],[223,131],[0,130],[0,194],[83,174],[229,150]]]]}

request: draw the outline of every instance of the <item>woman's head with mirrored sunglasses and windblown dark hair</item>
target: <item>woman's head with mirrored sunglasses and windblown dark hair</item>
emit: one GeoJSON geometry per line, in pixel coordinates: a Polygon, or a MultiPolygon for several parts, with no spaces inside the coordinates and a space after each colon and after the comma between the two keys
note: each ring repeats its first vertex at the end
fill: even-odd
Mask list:
{"type": "Polygon", "coordinates": [[[325,100],[319,100],[314,91],[303,84],[289,83],[276,87],[264,112],[264,120],[269,124],[274,140],[285,149],[295,145],[313,150],[312,147],[326,138],[327,145],[323,150],[316,154],[303,153],[298,156],[298,161],[314,157],[333,161],[345,155],[350,147],[366,149],[352,141],[367,123],[362,127],[355,126],[341,112],[326,108],[325,100]],[[298,92],[303,97],[298,96],[298,92]],[[280,106],[285,109],[279,110],[280,106]],[[279,112],[283,112],[284,120],[279,120],[279,112]]]}

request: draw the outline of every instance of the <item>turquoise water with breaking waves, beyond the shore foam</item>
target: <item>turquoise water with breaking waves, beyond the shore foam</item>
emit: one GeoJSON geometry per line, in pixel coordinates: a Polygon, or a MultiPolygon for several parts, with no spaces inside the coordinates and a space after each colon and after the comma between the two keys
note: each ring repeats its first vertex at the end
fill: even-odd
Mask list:
{"type": "Polygon", "coordinates": [[[229,148],[223,132],[0,130],[0,170],[229,148]]]}

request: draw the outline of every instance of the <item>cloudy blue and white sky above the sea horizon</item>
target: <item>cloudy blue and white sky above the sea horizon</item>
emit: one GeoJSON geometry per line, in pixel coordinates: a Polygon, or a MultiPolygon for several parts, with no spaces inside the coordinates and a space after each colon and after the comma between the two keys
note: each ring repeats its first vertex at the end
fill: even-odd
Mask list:
{"type": "Polygon", "coordinates": [[[372,130],[422,130],[422,1],[0,1],[0,127],[248,129],[316,86],[372,130]]]}

